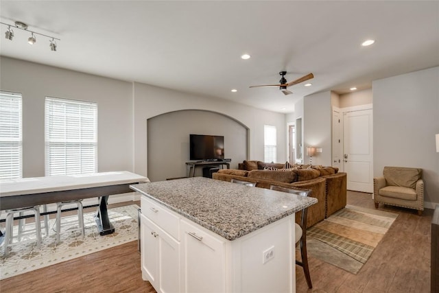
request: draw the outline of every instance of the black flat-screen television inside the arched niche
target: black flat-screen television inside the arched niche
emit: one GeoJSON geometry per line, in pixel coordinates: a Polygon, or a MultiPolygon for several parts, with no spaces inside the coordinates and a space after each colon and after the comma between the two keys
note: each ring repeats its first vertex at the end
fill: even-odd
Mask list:
{"type": "Polygon", "coordinates": [[[224,137],[219,135],[189,134],[190,160],[223,160],[224,137]]]}

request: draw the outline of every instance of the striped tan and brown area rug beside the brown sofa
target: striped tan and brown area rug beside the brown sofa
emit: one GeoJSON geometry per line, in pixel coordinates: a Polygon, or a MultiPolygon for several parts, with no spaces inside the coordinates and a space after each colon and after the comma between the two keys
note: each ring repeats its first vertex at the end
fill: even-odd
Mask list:
{"type": "Polygon", "coordinates": [[[307,251],[357,274],[398,214],[346,206],[307,230],[307,251]]]}

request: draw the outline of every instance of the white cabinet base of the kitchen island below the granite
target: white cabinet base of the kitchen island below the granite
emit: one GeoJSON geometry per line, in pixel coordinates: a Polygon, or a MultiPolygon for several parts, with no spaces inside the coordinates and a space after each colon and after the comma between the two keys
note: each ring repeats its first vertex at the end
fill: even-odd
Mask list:
{"type": "Polygon", "coordinates": [[[157,292],[294,292],[294,214],[227,240],[142,196],[142,277],[157,292]]]}

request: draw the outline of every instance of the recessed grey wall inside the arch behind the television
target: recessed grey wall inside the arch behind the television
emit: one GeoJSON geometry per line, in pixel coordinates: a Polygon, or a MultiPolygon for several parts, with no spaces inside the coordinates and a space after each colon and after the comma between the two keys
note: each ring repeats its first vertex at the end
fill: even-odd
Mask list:
{"type": "MultiPolygon", "coordinates": [[[[232,159],[230,168],[237,169],[247,158],[247,130],[225,115],[204,110],[179,110],[152,117],[147,120],[148,178],[161,181],[187,176],[189,134],[224,136],[224,156],[232,159]]],[[[195,176],[202,176],[202,167],[197,167],[195,176]]]]}

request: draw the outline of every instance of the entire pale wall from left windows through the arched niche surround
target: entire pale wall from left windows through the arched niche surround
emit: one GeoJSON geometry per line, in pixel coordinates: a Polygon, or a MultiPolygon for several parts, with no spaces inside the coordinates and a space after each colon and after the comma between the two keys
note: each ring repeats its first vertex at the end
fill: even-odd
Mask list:
{"type": "MultiPolygon", "coordinates": [[[[23,176],[45,176],[45,96],[98,104],[98,171],[147,176],[147,119],[174,110],[211,110],[250,129],[248,159],[263,160],[263,125],[278,130],[285,159],[285,115],[147,84],[124,82],[0,56],[0,89],[23,94],[23,176]]],[[[202,121],[200,121],[202,123],[202,121]]]]}

